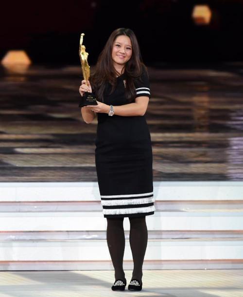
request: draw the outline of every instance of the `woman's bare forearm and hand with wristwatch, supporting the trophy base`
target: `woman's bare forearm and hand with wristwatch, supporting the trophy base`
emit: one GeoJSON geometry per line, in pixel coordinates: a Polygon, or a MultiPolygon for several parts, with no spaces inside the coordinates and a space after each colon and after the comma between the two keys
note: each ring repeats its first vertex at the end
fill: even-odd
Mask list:
{"type": "MultiPolygon", "coordinates": [[[[97,101],[98,105],[88,105],[85,109],[94,110],[94,112],[109,113],[110,106],[102,102],[97,101]]],[[[121,116],[138,116],[144,115],[149,103],[149,97],[140,96],[135,98],[134,103],[128,103],[119,106],[113,106],[114,114],[121,116]]]]}

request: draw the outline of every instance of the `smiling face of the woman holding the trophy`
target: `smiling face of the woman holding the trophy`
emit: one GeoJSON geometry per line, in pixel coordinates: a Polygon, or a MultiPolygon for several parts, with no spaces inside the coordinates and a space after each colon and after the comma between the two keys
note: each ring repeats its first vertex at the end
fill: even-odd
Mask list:
{"type": "Polygon", "coordinates": [[[124,65],[132,56],[132,43],[128,36],[118,36],[112,48],[112,60],[114,67],[124,65]]]}

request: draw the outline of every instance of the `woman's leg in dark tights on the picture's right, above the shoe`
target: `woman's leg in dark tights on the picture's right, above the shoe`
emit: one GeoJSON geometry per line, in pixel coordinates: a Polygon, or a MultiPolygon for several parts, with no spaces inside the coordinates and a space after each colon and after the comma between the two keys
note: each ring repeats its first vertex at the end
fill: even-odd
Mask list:
{"type": "Polygon", "coordinates": [[[148,230],[145,216],[131,217],[129,241],[133,255],[133,279],[142,280],[142,264],[148,242],[148,230]]]}

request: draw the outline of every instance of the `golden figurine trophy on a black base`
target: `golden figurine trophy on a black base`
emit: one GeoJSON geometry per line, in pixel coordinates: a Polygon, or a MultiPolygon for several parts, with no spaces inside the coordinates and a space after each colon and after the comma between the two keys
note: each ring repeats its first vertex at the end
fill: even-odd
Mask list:
{"type": "MultiPolygon", "coordinates": [[[[88,61],[87,61],[88,53],[85,51],[85,46],[83,45],[83,38],[84,38],[84,33],[82,33],[80,37],[79,56],[80,56],[84,79],[88,80],[90,76],[90,69],[89,69],[90,67],[88,66],[88,61]]],[[[79,107],[83,107],[87,105],[97,105],[96,98],[93,93],[85,92],[81,97],[79,107]]]]}

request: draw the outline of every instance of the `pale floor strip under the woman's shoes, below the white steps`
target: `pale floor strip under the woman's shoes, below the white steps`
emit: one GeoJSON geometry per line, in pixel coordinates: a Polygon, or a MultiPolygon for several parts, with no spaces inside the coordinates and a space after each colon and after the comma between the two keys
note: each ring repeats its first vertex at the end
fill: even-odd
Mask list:
{"type": "MultiPolygon", "coordinates": [[[[127,282],[132,271],[125,271],[127,282]]],[[[0,272],[0,297],[243,297],[243,270],[144,270],[140,292],[113,292],[114,271],[0,272]]]]}

